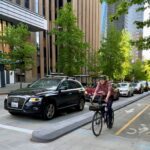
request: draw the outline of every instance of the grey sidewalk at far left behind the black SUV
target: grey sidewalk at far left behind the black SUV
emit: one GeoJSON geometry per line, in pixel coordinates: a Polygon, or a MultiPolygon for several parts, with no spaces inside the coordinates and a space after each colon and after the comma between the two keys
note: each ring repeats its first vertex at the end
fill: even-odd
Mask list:
{"type": "MultiPolygon", "coordinates": [[[[22,83],[22,87],[26,87],[29,83],[22,83]]],[[[20,82],[14,84],[6,84],[5,87],[0,88],[0,95],[8,94],[12,90],[20,89],[20,82]]]]}

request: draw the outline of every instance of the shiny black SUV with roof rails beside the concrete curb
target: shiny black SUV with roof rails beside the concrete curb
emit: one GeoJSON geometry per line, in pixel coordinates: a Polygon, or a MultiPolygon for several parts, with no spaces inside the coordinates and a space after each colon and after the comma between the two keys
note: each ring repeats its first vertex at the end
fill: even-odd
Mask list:
{"type": "Polygon", "coordinates": [[[12,115],[40,114],[52,119],[57,110],[76,107],[83,110],[85,89],[75,79],[49,76],[39,79],[27,88],[12,91],[4,101],[4,108],[12,115]]]}

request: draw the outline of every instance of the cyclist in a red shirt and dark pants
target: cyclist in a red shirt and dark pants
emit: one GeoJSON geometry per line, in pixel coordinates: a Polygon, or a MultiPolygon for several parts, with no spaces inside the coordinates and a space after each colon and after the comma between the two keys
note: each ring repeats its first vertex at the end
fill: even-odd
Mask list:
{"type": "Polygon", "coordinates": [[[95,99],[96,96],[103,96],[103,101],[107,103],[108,114],[110,116],[110,119],[112,119],[112,86],[105,75],[101,75],[99,77],[99,81],[92,97],[92,101],[95,99]]]}

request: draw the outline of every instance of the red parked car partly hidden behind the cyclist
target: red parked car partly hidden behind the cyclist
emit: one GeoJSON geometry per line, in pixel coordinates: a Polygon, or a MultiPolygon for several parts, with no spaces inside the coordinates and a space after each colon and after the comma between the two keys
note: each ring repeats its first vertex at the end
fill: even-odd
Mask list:
{"type": "MultiPolygon", "coordinates": [[[[111,83],[112,84],[112,96],[113,96],[113,100],[119,100],[119,88],[118,88],[118,84],[116,83],[111,83]]],[[[87,87],[85,89],[85,99],[86,101],[90,101],[91,97],[93,96],[94,94],[94,91],[95,91],[95,88],[96,88],[96,84],[93,84],[93,86],[91,87],[87,87]]]]}

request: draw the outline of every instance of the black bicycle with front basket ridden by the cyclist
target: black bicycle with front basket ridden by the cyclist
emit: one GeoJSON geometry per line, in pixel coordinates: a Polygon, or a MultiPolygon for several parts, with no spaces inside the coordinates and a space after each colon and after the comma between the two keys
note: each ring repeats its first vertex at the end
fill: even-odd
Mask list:
{"type": "Polygon", "coordinates": [[[107,104],[102,101],[102,97],[98,99],[98,103],[92,103],[89,110],[95,111],[92,119],[92,131],[95,136],[99,136],[101,134],[104,123],[106,123],[108,129],[113,127],[114,111],[112,109],[110,117],[107,110],[107,104]]]}

